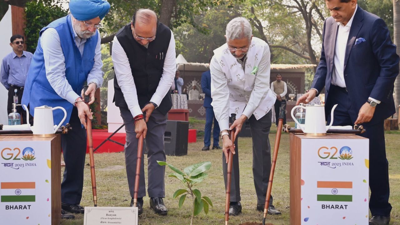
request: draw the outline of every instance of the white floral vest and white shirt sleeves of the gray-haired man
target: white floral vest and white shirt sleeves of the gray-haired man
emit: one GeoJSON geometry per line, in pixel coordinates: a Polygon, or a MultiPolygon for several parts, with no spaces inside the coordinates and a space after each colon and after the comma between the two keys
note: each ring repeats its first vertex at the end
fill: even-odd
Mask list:
{"type": "Polygon", "coordinates": [[[266,42],[252,38],[244,69],[230,53],[228,44],[214,50],[210,62],[211,96],[220,129],[229,129],[229,116],[236,114],[258,120],[273,107],[276,96],[270,90],[270,50],[266,42]]]}

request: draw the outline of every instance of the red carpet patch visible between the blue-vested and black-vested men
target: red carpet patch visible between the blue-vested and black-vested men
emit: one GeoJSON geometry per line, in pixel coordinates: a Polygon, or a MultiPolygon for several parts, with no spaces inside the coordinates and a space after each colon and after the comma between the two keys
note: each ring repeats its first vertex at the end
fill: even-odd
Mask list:
{"type": "MultiPolygon", "coordinates": [[[[112,133],[108,133],[107,130],[92,130],[93,137],[93,149],[96,149],[104,140],[106,140],[112,133]]],[[[125,145],[125,133],[116,133],[111,137],[111,140],[117,141],[125,145]]],[[[94,153],[116,153],[124,151],[124,146],[118,145],[111,141],[106,141],[99,149],[94,153]]],[[[86,147],[86,153],[89,153],[89,147],[86,147]]]]}

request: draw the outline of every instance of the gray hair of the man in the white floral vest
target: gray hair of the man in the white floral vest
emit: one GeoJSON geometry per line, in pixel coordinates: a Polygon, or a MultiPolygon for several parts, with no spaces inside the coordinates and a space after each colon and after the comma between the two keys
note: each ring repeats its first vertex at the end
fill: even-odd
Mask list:
{"type": "Polygon", "coordinates": [[[226,38],[233,39],[250,39],[252,28],[250,22],[243,17],[236,17],[226,25],[226,38]]]}

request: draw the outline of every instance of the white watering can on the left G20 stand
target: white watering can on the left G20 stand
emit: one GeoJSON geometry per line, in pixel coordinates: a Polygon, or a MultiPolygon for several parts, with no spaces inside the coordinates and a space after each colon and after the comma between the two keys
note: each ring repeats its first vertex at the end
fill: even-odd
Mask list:
{"type": "MultiPolygon", "coordinates": [[[[26,121],[29,124],[29,111],[28,107],[24,105],[26,110],[26,121]]],[[[35,107],[35,116],[33,117],[33,123],[35,126],[30,127],[33,132],[33,137],[54,137],[54,134],[60,128],[62,123],[64,123],[67,112],[64,108],[57,106],[57,107],[50,107],[47,105],[35,107]],[[64,112],[64,118],[62,118],[61,122],[58,125],[53,125],[53,110],[61,109],[64,112]]]]}

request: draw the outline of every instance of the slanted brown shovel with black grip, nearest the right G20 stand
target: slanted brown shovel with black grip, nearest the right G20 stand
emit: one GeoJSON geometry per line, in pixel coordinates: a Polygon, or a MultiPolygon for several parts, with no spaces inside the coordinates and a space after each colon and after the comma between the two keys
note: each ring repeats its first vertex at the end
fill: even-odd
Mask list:
{"type": "Polygon", "coordinates": [[[274,145],[274,155],[272,157],[270,179],[268,181],[267,194],[266,194],[266,197],[265,197],[264,217],[262,218],[262,225],[265,225],[265,218],[266,218],[267,213],[268,213],[268,205],[270,203],[271,190],[272,190],[272,181],[274,180],[275,165],[276,165],[276,159],[278,158],[280,135],[282,134],[282,126],[283,126],[283,120],[284,120],[284,116],[285,116],[285,110],[286,110],[286,103],[282,102],[280,104],[278,128],[276,130],[276,139],[275,139],[275,145],[274,145]]]}

